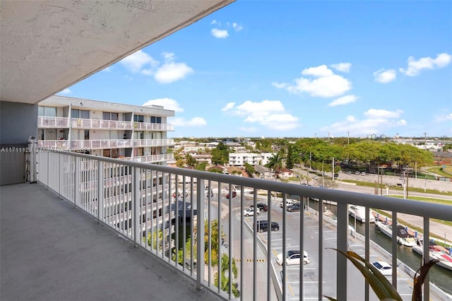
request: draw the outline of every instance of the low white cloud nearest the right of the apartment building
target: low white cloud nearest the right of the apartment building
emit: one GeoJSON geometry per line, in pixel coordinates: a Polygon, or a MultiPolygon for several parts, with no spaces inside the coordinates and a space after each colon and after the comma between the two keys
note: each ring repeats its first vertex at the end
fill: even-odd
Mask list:
{"type": "Polygon", "coordinates": [[[246,100],[237,106],[234,102],[230,102],[222,110],[232,116],[244,117],[244,122],[266,126],[268,129],[288,130],[299,126],[298,118],[285,112],[285,108],[279,100],[263,100],[262,102],[246,100]]]}

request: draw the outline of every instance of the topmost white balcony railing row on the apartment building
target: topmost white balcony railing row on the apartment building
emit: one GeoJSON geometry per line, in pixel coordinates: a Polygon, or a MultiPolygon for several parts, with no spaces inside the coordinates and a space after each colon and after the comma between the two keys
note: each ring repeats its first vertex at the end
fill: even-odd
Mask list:
{"type": "Polygon", "coordinates": [[[68,117],[44,117],[37,118],[37,126],[40,129],[66,128],[69,129],[117,129],[135,131],[174,131],[172,124],[153,124],[147,122],[124,122],[103,119],[80,119],[68,117]]]}

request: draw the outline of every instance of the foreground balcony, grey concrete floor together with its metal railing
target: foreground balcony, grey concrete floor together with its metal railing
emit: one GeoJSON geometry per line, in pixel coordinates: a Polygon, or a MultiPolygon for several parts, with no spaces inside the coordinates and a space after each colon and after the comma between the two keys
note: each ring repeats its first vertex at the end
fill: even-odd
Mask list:
{"type": "MultiPolygon", "coordinates": [[[[356,268],[329,247],[344,251],[349,247],[359,249],[359,254],[368,260],[376,254],[387,256],[393,266],[389,281],[403,293],[403,300],[411,300],[407,283],[412,272],[399,261],[400,247],[396,238],[391,240],[390,254],[381,252],[370,240],[369,222],[364,224],[362,237],[350,231],[347,205],[383,210],[389,212],[394,220],[409,215],[418,221],[424,241],[429,241],[434,219],[452,220],[452,206],[443,204],[93,155],[40,151],[37,163],[39,182],[55,194],[45,191],[41,185],[30,184],[2,187],[1,190],[1,283],[2,297],[7,300],[8,297],[20,300],[36,295],[42,296],[41,300],[61,300],[66,299],[68,292],[78,294],[78,300],[106,300],[109,296],[143,300],[143,295],[136,295],[143,293],[142,290],[157,291],[165,296],[162,300],[179,300],[180,296],[186,300],[198,300],[194,294],[201,293],[211,293],[225,300],[234,299],[235,288],[238,288],[242,300],[321,300],[323,295],[338,300],[376,300],[356,268]],[[115,172],[125,180],[115,181],[117,184],[112,184],[110,179],[106,181],[105,175],[112,177],[115,172]],[[155,187],[150,184],[154,179],[158,183],[155,187]],[[126,196],[122,199],[106,198],[112,189],[124,190],[126,196]],[[237,196],[228,199],[226,194],[233,190],[237,191],[237,196]],[[188,191],[179,199],[184,206],[189,205],[182,213],[177,210],[171,211],[172,214],[167,212],[175,201],[169,196],[169,191],[175,191],[176,195],[188,191]],[[154,194],[161,194],[162,201],[150,202],[149,198],[154,194]],[[300,200],[304,204],[307,201],[307,210],[287,212],[287,199],[300,200]],[[335,202],[336,217],[323,212],[323,206],[317,210],[311,208],[309,200],[313,199],[318,199],[320,204],[323,201],[335,202]],[[131,205],[126,206],[124,200],[131,205]],[[283,208],[278,206],[281,201],[283,208]],[[243,216],[245,208],[250,204],[256,206],[258,202],[268,203],[268,211],[261,216],[243,216]],[[115,206],[119,203],[127,212],[129,224],[126,231],[117,223],[108,222],[107,210],[112,208],[112,203],[115,206]],[[150,210],[149,203],[153,204],[150,210]],[[187,219],[188,213],[194,216],[195,210],[203,216],[187,219]],[[149,225],[143,214],[154,211],[161,213],[155,218],[150,216],[153,223],[149,225]],[[263,218],[279,223],[280,229],[259,232],[256,221],[263,218]],[[157,225],[174,229],[174,236],[160,235],[157,225]],[[215,227],[222,229],[222,235],[215,235],[215,227]],[[117,240],[118,235],[124,240],[117,240]],[[149,244],[143,237],[155,239],[149,244]],[[275,264],[276,250],[285,254],[291,248],[309,250],[309,265],[275,264]],[[179,250],[178,256],[172,256],[172,252],[166,249],[179,250]],[[213,249],[215,252],[211,251],[213,249]],[[229,260],[231,258],[234,261],[229,260]],[[219,269],[215,261],[225,262],[221,270],[226,278],[233,276],[237,268],[237,278],[232,277],[230,283],[233,284],[222,287],[224,290],[215,285],[215,273],[219,269]],[[83,271],[83,266],[86,271],[83,271]],[[152,266],[150,270],[146,268],[149,266],[152,266]],[[169,270],[165,270],[165,266],[169,270]],[[163,282],[154,280],[155,276],[162,278],[163,282]],[[17,283],[23,285],[23,289],[18,289],[17,283]],[[75,284],[77,287],[73,286],[75,284]],[[190,289],[191,286],[200,290],[190,289]],[[187,287],[188,295],[184,295],[187,287]],[[125,292],[121,292],[121,288],[125,292]],[[176,291],[179,297],[172,295],[176,291]]],[[[365,212],[368,221],[369,210],[365,212]]],[[[426,244],[424,254],[428,251],[426,244]]],[[[441,300],[444,297],[441,294],[441,290],[430,284],[427,278],[424,300],[441,300]]],[[[209,299],[204,295],[199,300],[215,298],[210,295],[209,299]]]]}

